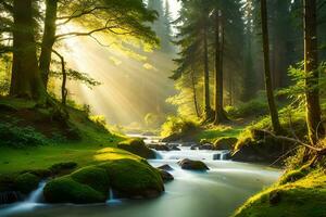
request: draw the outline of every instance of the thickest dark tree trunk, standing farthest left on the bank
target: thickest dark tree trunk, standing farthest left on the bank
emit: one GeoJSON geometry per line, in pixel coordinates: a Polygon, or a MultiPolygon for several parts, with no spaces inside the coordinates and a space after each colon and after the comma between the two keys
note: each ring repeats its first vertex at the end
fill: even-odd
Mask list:
{"type": "Polygon", "coordinates": [[[46,90],[37,64],[33,0],[14,0],[13,17],[13,66],[10,94],[43,100],[46,90]]]}

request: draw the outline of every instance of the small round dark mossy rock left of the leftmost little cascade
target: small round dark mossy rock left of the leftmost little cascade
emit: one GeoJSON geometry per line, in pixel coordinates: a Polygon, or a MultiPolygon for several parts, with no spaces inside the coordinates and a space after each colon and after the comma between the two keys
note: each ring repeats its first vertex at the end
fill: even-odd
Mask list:
{"type": "Polygon", "coordinates": [[[40,178],[30,173],[25,173],[15,179],[15,188],[24,193],[28,194],[37,189],[40,178]]]}

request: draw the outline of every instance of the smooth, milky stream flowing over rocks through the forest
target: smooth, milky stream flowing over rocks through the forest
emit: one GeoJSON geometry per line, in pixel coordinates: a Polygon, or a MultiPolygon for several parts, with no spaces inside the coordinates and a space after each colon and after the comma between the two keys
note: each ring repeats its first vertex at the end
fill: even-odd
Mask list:
{"type": "Polygon", "coordinates": [[[41,182],[26,201],[0,206],[1,217],[227,217],[249,196],[273,184],[281,170],[269,167],[213,161],[221,151],[190,150],[156,152],[158,158],[149,163],[154,166],[168,164],[174,181],[165,184],[165,193],[151,200],[117,200],[108,192],[105,204],[73,205],[41,203],[41,182]],[[205,173],[183,170],[178,165],[181,158],[201,159],[210,170],[205,173]]]}

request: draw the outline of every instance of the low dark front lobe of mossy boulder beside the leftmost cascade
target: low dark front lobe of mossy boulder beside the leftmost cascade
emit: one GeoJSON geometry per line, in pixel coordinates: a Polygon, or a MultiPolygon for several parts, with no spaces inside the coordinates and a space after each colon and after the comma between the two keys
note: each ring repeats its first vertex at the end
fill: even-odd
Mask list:
{"type": "Polygon", "coordinates": [[[70,176],[51,180],[47,183],[43,195],[50,203],[100,203],[106,195],[98,192],[87,184],[79,183],[70,176]]]}

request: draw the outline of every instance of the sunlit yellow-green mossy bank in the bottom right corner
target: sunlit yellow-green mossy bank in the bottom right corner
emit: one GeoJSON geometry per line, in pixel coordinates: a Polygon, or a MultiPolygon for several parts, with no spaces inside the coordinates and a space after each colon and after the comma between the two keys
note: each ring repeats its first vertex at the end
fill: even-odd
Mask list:
{"type": "Polygon", "coordinates": [[[326,175],[310,173],[294,182],[274,186],[254,195],[242,205],[236,217],[322,217],[326,214],[326,175]],[[277,200],[275,193],[277,192],[277,200]]]}

